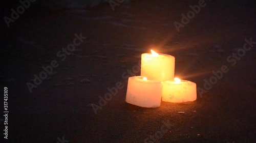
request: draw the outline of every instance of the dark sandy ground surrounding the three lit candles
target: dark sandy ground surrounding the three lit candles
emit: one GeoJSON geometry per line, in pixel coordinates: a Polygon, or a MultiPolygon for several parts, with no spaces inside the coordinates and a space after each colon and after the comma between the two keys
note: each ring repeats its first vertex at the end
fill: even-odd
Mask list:
{"type": "Polygon", "coordinates": [[[108,3],[53,10],[38,1],[10,27],[4,17],[20,4],[1,1],[0,75],[1,87],[8,87],[9,109],[8,140],[3,138],[4,122],[0,124],[3,142],[55,143],[62,136],[74,143],[143,142],[160,130],[163,121],[174,127],[160,142],[255,142],[255,45],[236,65],[226,60],[243,48],[245,38],[256,41],[255,4],[205,2],[206,7],[177,32],[174,22],[198,1],[136,1],[122,3],[115,11],[108,3]],[[80,33],[87,39],[60,61],[56,53],[80,33]],[[152,48],[175,56],[176,76],[197,87],[203,88],[204,79],[222,65],[229,72],[202,98],[198,93],[195,102],[162,102],[158,108],[128,104],[122,73],[152,48]],[[59,63],[53,69],[57,73],[30,93],[26,83],[52,60],[59,63]],[[73,80],[65,80],[68,77],[73,80]],[[84,78],[91,82],[81,83],[84,78]],[[119,81],[124,88],[95,115],[90,105],[98,105],[98,96],[119,81]]]}

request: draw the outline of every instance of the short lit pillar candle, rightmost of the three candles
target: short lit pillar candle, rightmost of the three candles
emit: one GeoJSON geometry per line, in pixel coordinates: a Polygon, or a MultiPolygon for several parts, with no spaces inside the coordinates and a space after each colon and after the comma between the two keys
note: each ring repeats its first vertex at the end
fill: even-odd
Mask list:
{"type": "Polygon", "coordinates": [[[197,84],[188,80],[167,80],[162,82],[162,101],[187,102],[197,99],[197,84]]]}

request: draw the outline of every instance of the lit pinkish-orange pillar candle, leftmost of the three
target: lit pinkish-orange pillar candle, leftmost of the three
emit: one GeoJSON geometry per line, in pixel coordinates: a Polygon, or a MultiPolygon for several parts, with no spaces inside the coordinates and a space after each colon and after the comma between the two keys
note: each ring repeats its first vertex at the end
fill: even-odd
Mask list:
{"type": "Polygon", "coordinates": [[[129,77],[125,101],[140,107],[159,107],[162,85],[143,76],[129,77]]]}

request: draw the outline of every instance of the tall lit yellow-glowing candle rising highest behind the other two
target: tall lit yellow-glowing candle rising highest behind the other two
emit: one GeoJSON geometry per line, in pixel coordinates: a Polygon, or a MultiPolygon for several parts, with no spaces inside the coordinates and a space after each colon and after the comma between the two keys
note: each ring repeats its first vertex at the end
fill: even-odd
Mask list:
{"type": "Polygon", "coordinates": [[[149,80],[165,81],[174,79],[175,58],[168,54],[141,54],[141,76],[149,80]]]}

